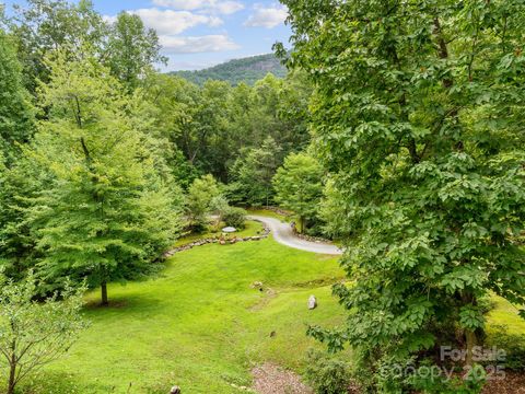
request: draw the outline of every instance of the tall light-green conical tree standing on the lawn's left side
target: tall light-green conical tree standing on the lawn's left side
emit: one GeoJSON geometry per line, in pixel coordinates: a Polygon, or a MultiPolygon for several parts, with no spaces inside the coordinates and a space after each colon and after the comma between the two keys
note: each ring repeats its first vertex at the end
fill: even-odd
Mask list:
{"type": "Polygon", "coordinates": [[[94,57],[58,56],[49,67],[40,90],[49,119],[27,150],[49,177],[28,209],[38,275],[47,290],[86,278],[107,305],[107,283],[148,273],[176,236],[179,190],[158,173],[140,95],[122,93],[94,57]]]}

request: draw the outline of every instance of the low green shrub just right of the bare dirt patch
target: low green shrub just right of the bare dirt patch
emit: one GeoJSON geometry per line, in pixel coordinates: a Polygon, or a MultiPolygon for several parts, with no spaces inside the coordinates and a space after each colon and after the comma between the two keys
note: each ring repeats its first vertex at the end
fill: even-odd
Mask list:
{"type": "Polygon", "coordinates": [[[317,394],[348,393],[350,369],[348,363],[320,351],[308,352],[306,380],[317,394]]]}

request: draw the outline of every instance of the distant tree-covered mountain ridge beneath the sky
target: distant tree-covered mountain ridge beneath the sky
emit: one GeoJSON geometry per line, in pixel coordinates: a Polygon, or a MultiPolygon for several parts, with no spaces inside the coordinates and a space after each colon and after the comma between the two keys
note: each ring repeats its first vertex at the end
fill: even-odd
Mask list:
{"type": "Polygon", "coordinates": [[[228,81],[232,85],[236,85],[240,82],[254,84],[255,81],[264,78],[268,72],[279,78],[287,76],[287,68],[273,54],[234,59],[203,70],[173,71],[171,74],[183,77],[197,84],[202,84],[212,79],[228,81]]]}

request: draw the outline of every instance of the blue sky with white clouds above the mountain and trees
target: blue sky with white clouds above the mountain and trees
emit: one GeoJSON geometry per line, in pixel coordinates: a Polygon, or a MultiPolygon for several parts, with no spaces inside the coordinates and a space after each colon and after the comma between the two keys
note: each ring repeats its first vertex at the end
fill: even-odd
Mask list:
{"type": "MultiPolygon", "coordinates": [[[[2,2],[0,0],[0,2],[2,2]]],[[[25,4],[7,0],[8,4],[25,4]]],[[[195,70],[225,60],[268,54],[288,44],[287,10],[272,0],[93,0],[108,21],[125,10],[158,31],[166,70],[195,70]]]]}

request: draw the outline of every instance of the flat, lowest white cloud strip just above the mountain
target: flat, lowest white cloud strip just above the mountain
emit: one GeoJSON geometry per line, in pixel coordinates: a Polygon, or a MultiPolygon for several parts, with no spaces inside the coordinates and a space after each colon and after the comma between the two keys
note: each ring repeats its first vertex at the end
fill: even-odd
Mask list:
{"type": "Polygon", "coordinates": [[[166,54],[199,54],[238,49],[238,45],[223,34],[200,37],[161,36],[166,54]]]}

